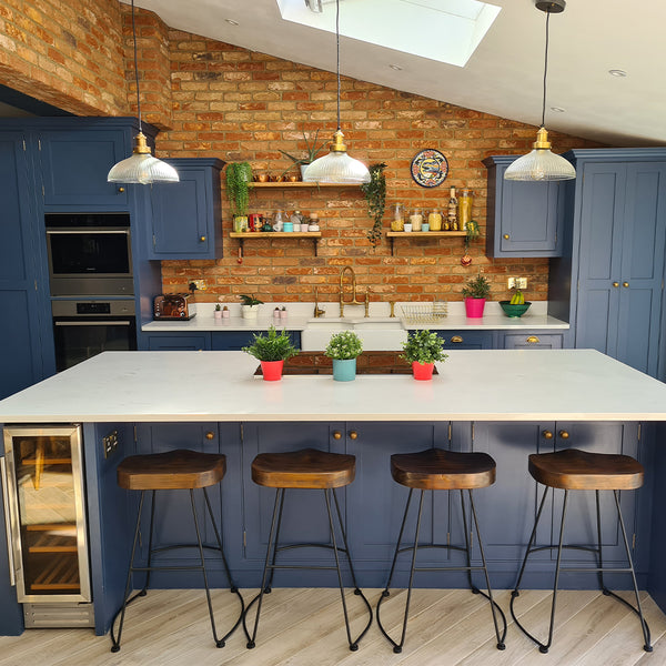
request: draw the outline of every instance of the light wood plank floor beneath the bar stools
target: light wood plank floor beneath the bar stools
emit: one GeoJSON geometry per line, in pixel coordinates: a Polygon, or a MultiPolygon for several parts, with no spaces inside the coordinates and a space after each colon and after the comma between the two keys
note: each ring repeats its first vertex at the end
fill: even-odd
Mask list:
{"type": "MultiPolygon", "coordinates": [[[[380,592],[366,591],[374,605],[380,592]]],[[[250,591],[243,591],[251,598],[250,591]]],[[[495,596],[508,619],[507,591],[495,596]]],[[[495,648],[490,606],[462,589],[417,589],[412,597],[407,639],[395,655],[376,623],[352,653],[345,643],[336,589],[274,589],[264,597],[255,649],[245,648],[238,630],[215,648],[202,591],[151,591],[128,609],[122,649],[111,654],[108,636],[90,629],[29,629],[0,637],[0,664],[20,666],[665,666],[666,616],[644,594],[654,652],[643,650],[637,617],[598,592],[561,592],[555,642],[542,655],[509,624],[506,649],[495,648]]],[[[402,620],[404,592],[382,605],[382,620],[394,634],[402,620]]],[[[626,598],[630,598],[627,596],[626,598]]],[[[354,627],[365,622],[362,602],[347,596],[354,627]]],[[[535,632],[549,617],[548,593],[521,593],[519,613],[535,632]]],[[[233,624],[235,596],[215,591],[219,627],[233,624]]],[[[544,634],[542,634],[544,635],[544,634]]]]}

